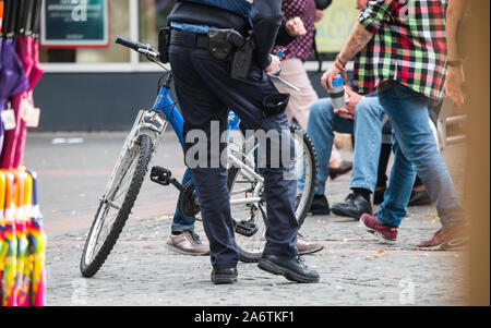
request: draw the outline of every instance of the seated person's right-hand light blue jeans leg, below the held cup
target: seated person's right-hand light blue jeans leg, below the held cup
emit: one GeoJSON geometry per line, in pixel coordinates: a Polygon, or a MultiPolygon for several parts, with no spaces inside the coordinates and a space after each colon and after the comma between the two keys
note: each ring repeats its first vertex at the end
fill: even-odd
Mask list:
{"type": "Polygon", "coordinates": [[[384,116],[384,108],[380,105],[379,97],[363,97],[357,105],[350,189],[358,187],[375,192],[384,116]]]}

